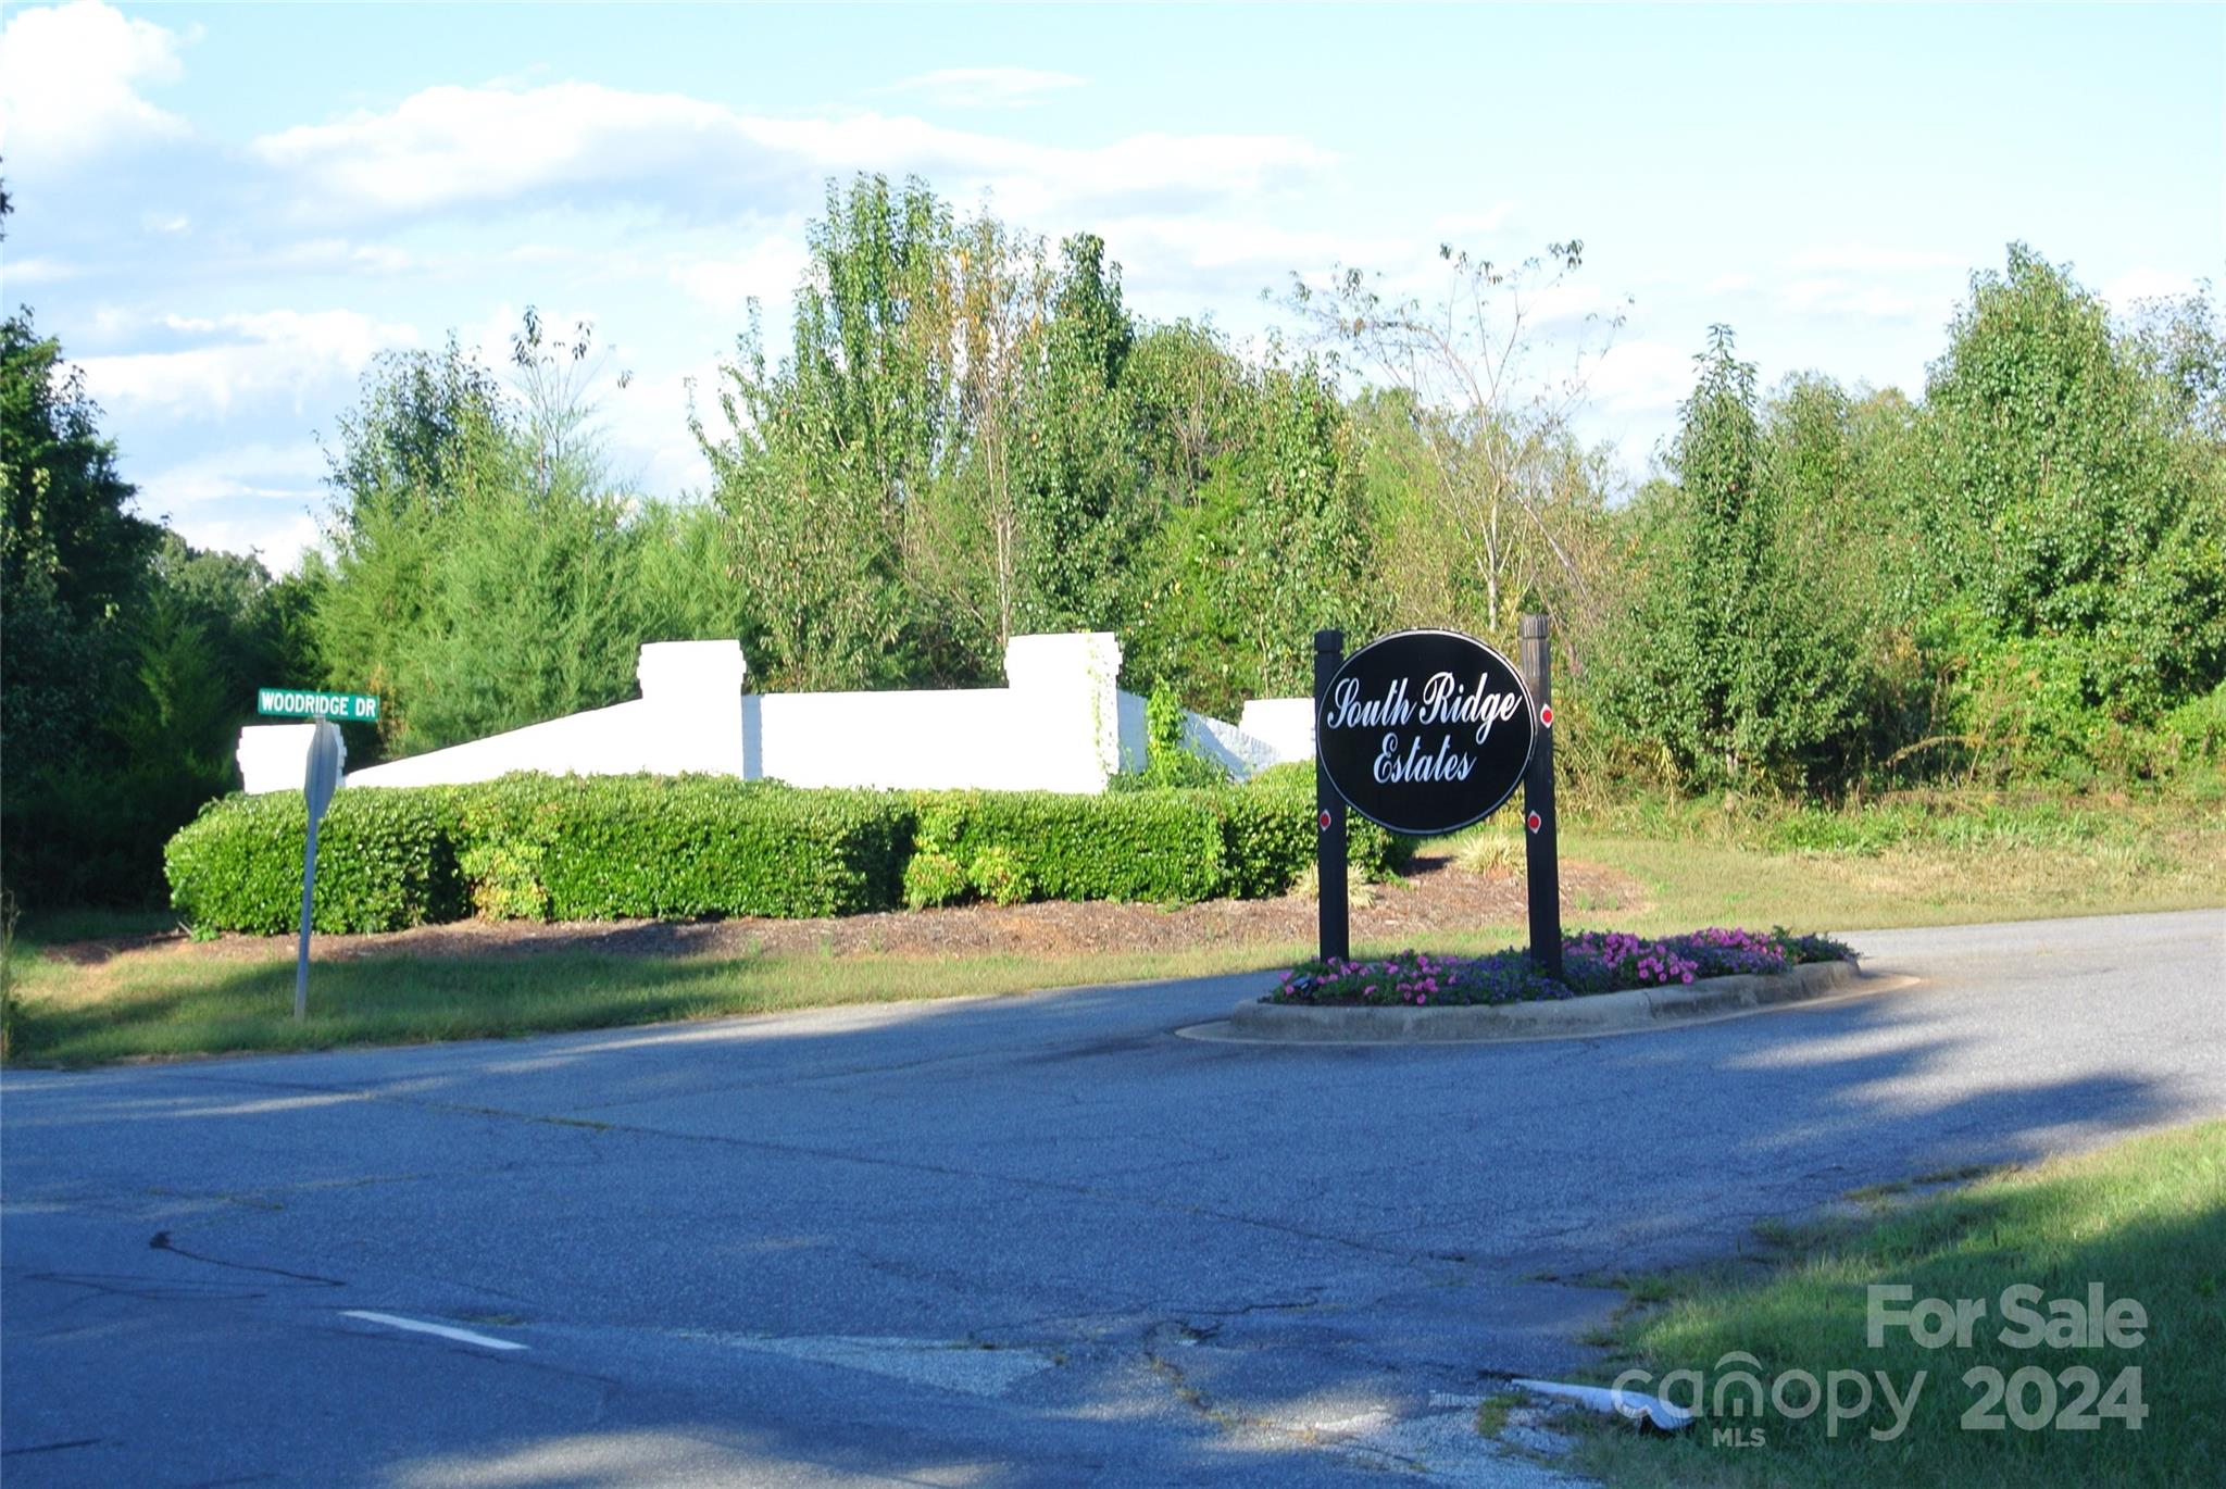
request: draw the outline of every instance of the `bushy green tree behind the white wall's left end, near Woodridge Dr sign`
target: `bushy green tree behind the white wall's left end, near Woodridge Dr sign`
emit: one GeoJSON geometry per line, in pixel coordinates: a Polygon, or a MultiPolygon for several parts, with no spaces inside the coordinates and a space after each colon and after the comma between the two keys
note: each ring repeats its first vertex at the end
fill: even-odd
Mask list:
{"type": "Polygon", "coordinates": [[[654,523],[608,490],[585,387],[563,403],[536,383],[550,349],[532,321],[519,347],[523,396],[454,338],[383,356],[327,454],[316,652],[329,683],[387,699],[390,755],[617,703],[657,639],[637,585],[654,523]]]}

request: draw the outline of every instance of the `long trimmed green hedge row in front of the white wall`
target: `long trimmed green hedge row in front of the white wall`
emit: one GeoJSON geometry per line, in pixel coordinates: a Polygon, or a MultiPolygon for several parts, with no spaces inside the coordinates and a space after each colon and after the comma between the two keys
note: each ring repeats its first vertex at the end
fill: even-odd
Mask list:
{"type": "MultiPolygon", "coordinates": [[[[292,930],[301,797],[225,797],[165,850],[200,930],[292,930]]],[[[1186,904],[1280,895],[1313,861],[1313,770],[1249,786],[1055,792],[797,790],[730,777],[512,775],[354,788],[318,830],[314,926],[490,919],[812,917],[982,897],[1186,904]]],[[[1407,846],[1367,824],[1353,866],[1407,846]]]]}

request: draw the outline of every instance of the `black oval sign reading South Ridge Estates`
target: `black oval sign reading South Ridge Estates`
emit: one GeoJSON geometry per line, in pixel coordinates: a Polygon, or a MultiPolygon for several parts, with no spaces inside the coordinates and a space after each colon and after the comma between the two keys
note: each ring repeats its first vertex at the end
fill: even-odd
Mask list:
{"type": "Polygon", "coordinates": [[[1538,717],[1476,637],[1400,630],[1345,659],[1313,717],[1329,783],[1373,824],[1429,837],[1483,821],[1523,783],[1538,717]]]}

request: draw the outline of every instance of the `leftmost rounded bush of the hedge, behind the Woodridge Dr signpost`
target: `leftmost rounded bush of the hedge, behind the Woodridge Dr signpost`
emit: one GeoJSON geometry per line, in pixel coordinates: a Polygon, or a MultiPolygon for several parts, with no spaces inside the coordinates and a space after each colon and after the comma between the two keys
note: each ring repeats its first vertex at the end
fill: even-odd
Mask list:
{"type": "MultiPolygon", "coordinates": [[[[171,906],[196,928],[292,930],[307,832],[309,815],[294,792],[207,803],[162,850],[171,906]]],[[[456,919],[463,908],[441,795],[367,786],[332,799],[318,826],[316,930],[401,930],[456,919]]]]}

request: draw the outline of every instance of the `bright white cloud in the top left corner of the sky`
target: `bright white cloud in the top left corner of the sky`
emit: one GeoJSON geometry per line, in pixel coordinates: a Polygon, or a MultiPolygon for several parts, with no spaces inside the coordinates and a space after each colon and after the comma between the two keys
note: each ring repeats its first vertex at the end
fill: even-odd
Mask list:
{"type": "Polygon", "coordinates": [[[49,171],[114,145],[180,136],[187,125],[145,98],[171,82],[180,38],[98,0],[18,11],[0,33],[0,151],[9,169],[49,171]]]}

